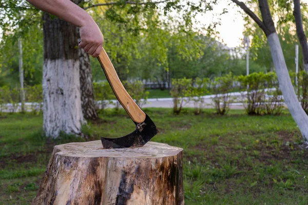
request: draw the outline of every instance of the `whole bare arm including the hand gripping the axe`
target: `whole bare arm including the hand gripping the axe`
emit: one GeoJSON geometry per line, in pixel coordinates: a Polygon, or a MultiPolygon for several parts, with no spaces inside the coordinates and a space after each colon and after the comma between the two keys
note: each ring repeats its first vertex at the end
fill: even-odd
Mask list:
{"type": "Polygon", "coordinates": [[[70,0],[27,0],[38,9],[55,15],[67,22],[80,27],[83,48],[93,57],[99,56],[104,43],[104,37],[93,18],[82,8],[70,0]]]}

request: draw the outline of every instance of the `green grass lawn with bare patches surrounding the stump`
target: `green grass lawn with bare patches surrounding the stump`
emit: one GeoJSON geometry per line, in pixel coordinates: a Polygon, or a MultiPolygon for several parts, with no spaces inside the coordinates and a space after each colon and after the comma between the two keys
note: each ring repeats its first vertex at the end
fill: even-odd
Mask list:
{"type": "MultiPolygon", "coordinates": [[[[185,204],[308,204],[308,152],[289,114],[145,111],[160,130],[154,141],[184,148],[185,204]]],[[[50,140],[42,136],[42,116],[0,116],[0,204],[31,202],[54,145],[133,130],[124,111],[100,117],[84,126],[86,139],[50,140]]]]}

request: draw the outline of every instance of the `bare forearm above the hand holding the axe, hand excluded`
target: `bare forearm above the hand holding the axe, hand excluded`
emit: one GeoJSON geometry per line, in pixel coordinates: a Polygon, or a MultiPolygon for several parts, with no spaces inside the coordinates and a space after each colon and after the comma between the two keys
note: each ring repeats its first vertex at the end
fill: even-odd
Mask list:
{"type": "Polygon", "coordinates": [[[69,0],[27,0],[27,2],[78,27],[93,21],[85,10],[69,0]]]}

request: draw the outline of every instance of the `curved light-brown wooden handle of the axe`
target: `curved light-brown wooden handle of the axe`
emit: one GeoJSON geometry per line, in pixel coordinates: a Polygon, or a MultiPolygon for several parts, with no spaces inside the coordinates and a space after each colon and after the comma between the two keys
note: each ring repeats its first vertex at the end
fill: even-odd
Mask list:
{"type": "Polygon", "coordinates": [[[145,113],[125,90],[104,48],[102,49],[98,59],[115,96],[129,117],[137,123],[143,122],[145,120],[145,113]]]}

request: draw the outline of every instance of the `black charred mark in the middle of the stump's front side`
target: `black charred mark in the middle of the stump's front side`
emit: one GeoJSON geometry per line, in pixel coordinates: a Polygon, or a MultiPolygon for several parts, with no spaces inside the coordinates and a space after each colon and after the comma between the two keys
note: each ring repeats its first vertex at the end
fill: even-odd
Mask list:
{"type": "Polygon", "coordinates": [[[117,194],[117,200],[115,200],[116,205],[127,204],[127,201],[130,199],[131,193],[133,192],[134,181],[128,184],[126,175],[127,173],[123,171],[119,191],[117,194]]]}

